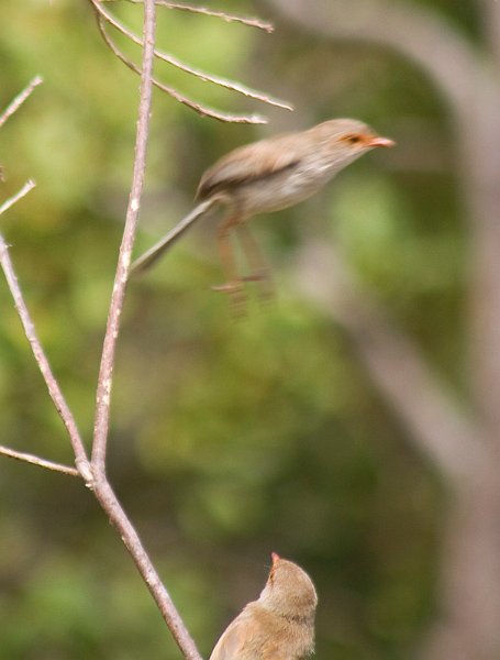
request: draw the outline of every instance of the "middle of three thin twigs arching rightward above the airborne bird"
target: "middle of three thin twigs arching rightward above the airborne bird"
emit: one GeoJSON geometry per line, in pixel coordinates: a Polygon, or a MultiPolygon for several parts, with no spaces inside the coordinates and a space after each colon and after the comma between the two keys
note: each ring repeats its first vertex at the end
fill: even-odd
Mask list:
{"type": "MultiPolygon", "coordinates": [[[[115,30],[118,30],[119,32],[124,34],[133,43],[137,44],[138,46],[142,46],[141,38],[136,34],[134,34],[131,30],[129,30],[129,28],[123,25],[123,23],[121,21],[119,21],[115,16],[113,16],[110,12],[108,12],[102,7],[102,4],[99,2],[99,0],[90,0],[90,1],[92,2],[93,7],[96,8],[96,11],[108,23],[110,23],[110,25],[112,25],[115,30]]],[[[185,72],[186,74],[189,74],[191,76],[199,78],[200,80],[203,80],[204,82],[213,82],[214,85],[219,85],[220,87],[223,87],[231,91],[236,91],[237,94],[241,94],[241,95],[246,96],[252,99],[256,99],[264,103],[268,103],[269,106],[276,106],[278,108],[284,108],[286,110],[293,109],[289,103],[287,103],[285,101],[275,99],[275,98],[270,97],[269,95],[266,95],[256,89],[251,89],[249,87],[246,87],[245,85],[242,85],[240,82],[235,82],[235,81],[229,80],[226,78],[221,78],[219,76],[213,76],[212,74],[208,74],[207,72],[195,68],[195,67],[181,62],[180,59],[177,59],[177,57],[174,57],[173,55],[169,55],[168,53],[163,53],[162,51],[155,51],[155,57],[157,57],[158,59],[162,59],[163,62],[166,62],[167,64],[170,64],[171,66],[175,66],[179,70],[185,72]]]]}

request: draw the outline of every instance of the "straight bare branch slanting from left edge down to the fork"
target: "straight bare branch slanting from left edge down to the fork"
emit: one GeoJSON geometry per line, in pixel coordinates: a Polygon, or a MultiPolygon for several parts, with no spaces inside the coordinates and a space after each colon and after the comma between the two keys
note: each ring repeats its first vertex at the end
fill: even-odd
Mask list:
{"type": "Polygon", "coordinates": [[[0,265],[3,268],[7,284],[11,292],[12,298],[14,299],[15,309],[18,311],[19,318],[21,319],[21,323],[23,326],[27,341],[30,342],[36,364],[38,365],[38,369],[47,386],[48,394],[51,395],[56,410],[59,414],[59,417],[62,418],[68,431],[73,450],[75,452],[77,469],[80,472],[81,476],[86,481],[89,481],[89,479],[91,479],[91,475],[84,442],[78,431],[78,427],[76,425],[73,413],[66,403],[63,392],[60,391],[59,384],[57,383],[52,372],[48,359],[45,355],[45,352],[42,348],[42,343],[36,334],[33,320],[30,316],[26,304],[24,302],[24,298],[21,293],[21,287],[19,286],[18,278],[14,273],[12,261],[9,256],[8,245],[2,234],[0,234],[0,265]]]}

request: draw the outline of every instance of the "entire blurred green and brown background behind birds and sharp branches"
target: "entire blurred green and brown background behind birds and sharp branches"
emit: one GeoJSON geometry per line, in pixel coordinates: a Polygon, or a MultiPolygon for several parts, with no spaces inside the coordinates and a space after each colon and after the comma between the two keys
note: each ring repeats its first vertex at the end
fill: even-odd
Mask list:
{"type": "MultiPolygon", "coordinates": [[[[158,8],[159,47],[296,111],[158,64],[200,102],[269,124],[201,118],[155,91],[137,253],[241,144],[346,116],[398,146],[252,221],[276,298],[262,305],[249,286],[246,318],[210,289],[215,216],[131,282],[111,482],[204,657],[276,551],[316,584],[320,660],[498,658],[500,3],[210,7],[276,31],[158,8]]],[[[141,30],[140,6],[108,8],[141,30]]],[[[37,183],[2,232],[90,441],[138,78],[104,46],[90,3],[3,2],[0,24],[1,107],[44,77],[0,132],[0,199],[37,183]]],[[[3,283],[0,304],[0,443],[70,463],[3,283]]],[[[2,658],[179,658],[82,484],[0,462],[2,658]]]]}

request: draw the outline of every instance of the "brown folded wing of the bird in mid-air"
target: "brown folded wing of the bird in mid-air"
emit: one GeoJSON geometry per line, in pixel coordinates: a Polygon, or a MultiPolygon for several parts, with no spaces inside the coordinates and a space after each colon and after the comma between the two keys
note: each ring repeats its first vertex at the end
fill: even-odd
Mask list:
{"type": "Polygon", "coordinates": [[[231,190],[245,182],[254,182],[292,167],[300,160],[300,142],[290,135],[277,135],[246,144],[223,156],[201,177],[196,198],[207,199],[231,190]]]}

